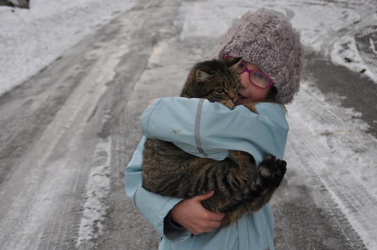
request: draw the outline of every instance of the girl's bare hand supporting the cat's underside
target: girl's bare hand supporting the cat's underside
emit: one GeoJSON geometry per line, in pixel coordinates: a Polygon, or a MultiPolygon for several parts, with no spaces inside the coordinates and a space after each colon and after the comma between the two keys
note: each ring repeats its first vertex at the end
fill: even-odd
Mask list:
{"type": "Polygon", "coordinates": [[[211,232],[215,227],[219,227],[225,214],[207,210],[200,202],[207,200],[213,194],[215,194],[214,190],[180,201],[172,209],[172,220],[181,224],[194,235],[211,232]]]}

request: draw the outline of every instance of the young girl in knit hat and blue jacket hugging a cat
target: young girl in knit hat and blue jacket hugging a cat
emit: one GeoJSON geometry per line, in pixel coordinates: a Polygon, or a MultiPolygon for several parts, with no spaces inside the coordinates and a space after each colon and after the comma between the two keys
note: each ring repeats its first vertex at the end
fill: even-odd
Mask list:
{"type": "MultiPolygon", "coordinates": [[[[204,99],[159,98],[148,103],[140,120],[142,132],[199,157],[222,160],[234,149],[250,153],[257,164],[266,154],[283,158],[288,133],[284,104],[290,103],[299,90],[302,55],[300,35],[287,18],[264,8],[247,12],[221,37],[212,56],[243,58],[235,104],[259,102],[255,106],[258,113],[242,105],[229,110],[204,99]],[[176,133],[171,133],[173,130],[176,133]]],[[[125,188],[161,235],[159,249],[274,249],[269,204],[219,230],[224,214],[208,211],[200,203],[214,191],[181,199],[143,189],[145,140],[141,140],[125,170],[125,188]]]]}

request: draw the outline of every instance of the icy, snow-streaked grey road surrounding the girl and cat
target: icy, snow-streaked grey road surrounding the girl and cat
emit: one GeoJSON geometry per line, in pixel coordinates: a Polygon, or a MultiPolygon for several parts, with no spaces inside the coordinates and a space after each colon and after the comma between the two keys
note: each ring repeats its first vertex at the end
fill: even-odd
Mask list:
{"type": "Polygon", "coordinates": [[[143,109],[178,95],[232,20],[266,6],[291,18],[307,47],[287,107],[288,171],[271,201],[275,247],[376,250],[376,3],[132,4],[0,97],[1,249],[156,249],[123,187],[143,109]]]}

